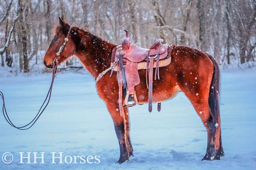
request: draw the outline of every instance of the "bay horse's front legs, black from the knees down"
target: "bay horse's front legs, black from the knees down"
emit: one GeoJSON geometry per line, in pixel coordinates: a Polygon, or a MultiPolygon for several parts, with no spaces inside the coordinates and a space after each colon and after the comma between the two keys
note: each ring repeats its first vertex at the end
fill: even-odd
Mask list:
{"type": "Polygon", "coordinates": [[[128,108],[124,108],[124,115],[120,116],[119,107],[117,103],[107,102],[108,111],[114,122],[114,127],[116,130],[116,136],[118,138],[120,147],[120,158],[118,163],[121,164],[127,161],[130,156],[133,155],[133,148],[130,140],[130,122],[128,115],[128,108]]]}

